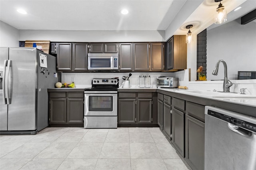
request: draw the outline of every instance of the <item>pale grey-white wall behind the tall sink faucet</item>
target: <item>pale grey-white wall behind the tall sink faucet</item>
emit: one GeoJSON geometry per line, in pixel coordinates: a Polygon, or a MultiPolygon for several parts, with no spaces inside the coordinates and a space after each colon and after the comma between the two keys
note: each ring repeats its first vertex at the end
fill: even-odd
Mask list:
{"type": "Polygon", "coordinates": [[[224,79],[224,66],[217,76],[212,71],[219,59],[228,66],[228,79],[237,79],[238,71],[256,71],[256,22],[241,25],[234,20],[207,30],[207,80],[224,79]]]}

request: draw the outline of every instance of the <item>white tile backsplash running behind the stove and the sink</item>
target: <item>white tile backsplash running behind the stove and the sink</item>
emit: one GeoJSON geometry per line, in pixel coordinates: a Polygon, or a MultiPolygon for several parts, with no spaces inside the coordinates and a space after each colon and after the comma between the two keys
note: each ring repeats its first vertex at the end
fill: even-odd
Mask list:
{"type": "MultiPolygon", "coordinates": [[[[156,77],[178,77],[179,85],[187,86],[191,90],[223,90],[223,80],[219,81],[189,81],[189,69],[178,71],[178,72],[131,72],[132,76],[130,79],[130,85],[138,87],[140,75],[150,75],[151,87],[156,87],[156,77]]],[[[76,84],[76,88],[91,87],[92,78],[114,78],[118,77],[120,82],[119,86],[122,85],[122,76],[128,76],[129,72],[126,73],[62,73],[62,83],[71,83],[72,79],[76,84]]],[[[251,80],[230,80],[233,85],[230,87],[230,91],[240,93],[241,88],[246,88],[247,94],[256,95],[256,79],[251,80]]]]}

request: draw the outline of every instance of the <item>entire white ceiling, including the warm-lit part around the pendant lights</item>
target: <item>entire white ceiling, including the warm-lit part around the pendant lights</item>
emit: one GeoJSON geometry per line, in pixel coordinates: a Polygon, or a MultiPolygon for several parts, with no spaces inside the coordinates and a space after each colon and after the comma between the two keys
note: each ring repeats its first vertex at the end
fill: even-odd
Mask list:
{"type": "MultiPolygon", "coordinates": [[[[256,0],[222,4],[229,12],[228,22],[256,8],[256,0]],[[242,8],[234,12],[237,6],[242,8]]],[[[19,30],[166,30],[178,18],[183,24],[175,25],[172,35],[179,35],[186,34],[189,24],[197,33],[212,25],[217,7],[214,0],[0,0],[0,20],[19,30]],[[189,2],[200,2],[194,12],[189,2]],[[19,14],[18,8],[28,14],[19,14]],[[127,15],[120,13],[123,8],[129,10],[127,15]],[[182,19],[186,12],[189,17],[182,19]]]]}

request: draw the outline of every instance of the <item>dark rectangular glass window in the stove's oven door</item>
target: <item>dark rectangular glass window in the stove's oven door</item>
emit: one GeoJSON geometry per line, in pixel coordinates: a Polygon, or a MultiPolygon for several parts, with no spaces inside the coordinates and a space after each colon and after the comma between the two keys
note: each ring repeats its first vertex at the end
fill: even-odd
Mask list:
{"type": "Polygon", "coordinates": [[[113,111],[113,96],[89,96],[89,111],[113,111]]]}

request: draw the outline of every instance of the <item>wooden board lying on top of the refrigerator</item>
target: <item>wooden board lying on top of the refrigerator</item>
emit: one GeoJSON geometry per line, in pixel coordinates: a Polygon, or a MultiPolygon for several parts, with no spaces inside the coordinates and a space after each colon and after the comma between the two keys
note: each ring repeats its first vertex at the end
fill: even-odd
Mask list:
{"type": "Polygon", "coordinates": [[[37,47],[45,53],[49,53],[50,41],[48,40],[26,40],[25,47],[37,47]]]}

